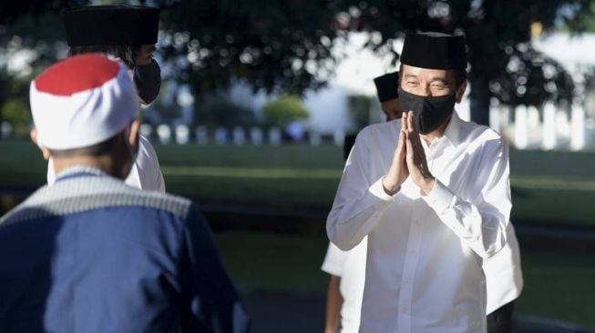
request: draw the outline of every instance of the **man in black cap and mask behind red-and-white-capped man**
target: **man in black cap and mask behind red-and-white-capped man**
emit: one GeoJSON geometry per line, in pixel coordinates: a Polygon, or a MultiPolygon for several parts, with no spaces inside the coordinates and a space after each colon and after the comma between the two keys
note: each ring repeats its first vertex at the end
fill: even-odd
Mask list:
{"type": "MultiPolygon", "coordinates": [[[[128,66],[138,102],[151,103],[159,94],[159,64],[153,59],[159,32],[159,8],[131,5],[91,5],[65,12],[69,55],[105,53],[128,66]]],[[[126,184],[165,193],[165,183],[155,149],[138,136],[138,156],[126,184]]],[[[54,163],[47,166],[47,184],[56,181],[54,163]]]]}

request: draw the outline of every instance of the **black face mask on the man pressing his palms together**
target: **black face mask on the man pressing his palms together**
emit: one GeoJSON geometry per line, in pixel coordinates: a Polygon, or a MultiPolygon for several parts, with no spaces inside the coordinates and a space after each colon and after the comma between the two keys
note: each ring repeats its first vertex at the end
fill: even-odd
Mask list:
{"type": "Polygon", "coordinates": [[[407,93],[399,86],[399,102],[404,111],[413,111],[414,123],[421,134],[428,134],[444,124],[453,114],[457,96],[419,96],[407,93]]]}

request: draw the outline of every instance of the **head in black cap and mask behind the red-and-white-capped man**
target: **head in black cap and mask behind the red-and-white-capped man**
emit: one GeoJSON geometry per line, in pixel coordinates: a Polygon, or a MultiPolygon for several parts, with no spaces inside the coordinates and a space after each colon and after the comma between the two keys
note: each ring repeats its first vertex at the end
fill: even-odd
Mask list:
{"type": "Polygon", "coordinates": [[[159,32],[159,8],[92,5],[65,12],[68,55],[105,53],[120,59],[133,77],[138,100],[159,95],[161,71],[153,59],[159,32]]]}

